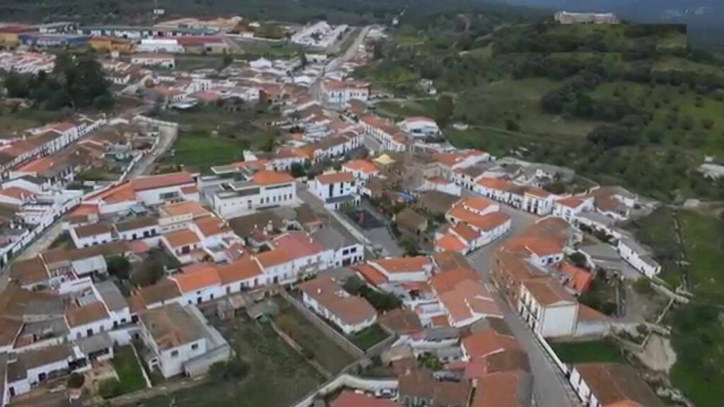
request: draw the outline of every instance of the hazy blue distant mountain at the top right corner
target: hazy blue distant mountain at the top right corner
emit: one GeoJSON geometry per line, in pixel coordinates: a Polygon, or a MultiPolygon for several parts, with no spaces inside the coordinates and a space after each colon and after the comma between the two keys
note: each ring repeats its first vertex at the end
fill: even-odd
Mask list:
{"type": "Polygon", "coordinates": [[[685,23],[724,28],[724,0],[479,0],[571,12],[614,12],[633,22],[685,23]]]}

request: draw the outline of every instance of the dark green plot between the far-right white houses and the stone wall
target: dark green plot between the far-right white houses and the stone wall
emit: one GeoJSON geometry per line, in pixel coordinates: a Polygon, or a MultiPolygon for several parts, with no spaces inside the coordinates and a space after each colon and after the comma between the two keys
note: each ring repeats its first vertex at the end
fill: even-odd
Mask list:
{"type": "Polygon", "coordinates": [[[679,267],[678,253],[681,251],[676,240],[673,211],[662,206],[648,217],[631,223],[628,226],[642,243],[654,249],[654,256],[661,264],[662,272],[659,277],[675,288],[681,282],[681,267],[679,267]]]}

